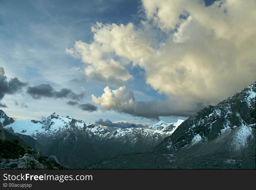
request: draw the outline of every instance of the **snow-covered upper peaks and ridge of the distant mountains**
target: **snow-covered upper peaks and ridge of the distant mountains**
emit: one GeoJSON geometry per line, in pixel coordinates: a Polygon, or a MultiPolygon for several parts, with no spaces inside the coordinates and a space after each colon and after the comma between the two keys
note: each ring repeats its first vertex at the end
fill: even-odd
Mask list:
{"type": "MultiPolygon", "coordinates": [[[[1,122],[5,118],[8,118],[6,114],[2,111],[1,122]]],[[[12,118],[11,118],[12,119],[12,118]]],[[[144,128],[118,128],[115,131],[108,132],[99,126],[95,126],[92,123],[86,123],[82,120],[75,120],[72,117],[61,117],[60,115],[53,113],[48,117],[41,119],[40,121],[35,120],[15,120],[13,123],[8,125],[3,125],[5,129],[12,131],[14,133],[20,133],[24,135],[30,135],[31,137],[37,139],[41,136],[49,136],[55,138],[61,133],[67,131],[79,132],[86,131],[89,135],[97,135],[101,138],[111,139],[111,138],[136,138],[141,137],[166,137],[171,135],[175,129],[181,124],[183,120],[178,120],[176,123],[166,123],[164,121],[159,121],[154,125],[144,128]]]]}

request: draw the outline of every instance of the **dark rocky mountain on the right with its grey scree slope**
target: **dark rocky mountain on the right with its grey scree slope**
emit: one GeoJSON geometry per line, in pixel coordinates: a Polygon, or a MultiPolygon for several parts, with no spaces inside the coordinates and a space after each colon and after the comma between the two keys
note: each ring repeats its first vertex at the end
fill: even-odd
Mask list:
{"type": "Polygon", "coordinates": [[[118,155],[89,169],[255,169],[255,85],[182,122],[152,152],[118,155]]]}

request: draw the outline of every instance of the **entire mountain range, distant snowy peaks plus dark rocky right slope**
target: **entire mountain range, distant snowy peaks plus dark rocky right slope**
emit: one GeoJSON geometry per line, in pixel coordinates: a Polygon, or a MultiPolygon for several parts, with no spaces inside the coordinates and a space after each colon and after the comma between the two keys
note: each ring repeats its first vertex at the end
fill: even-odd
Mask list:
{"type": "Polygon", "coordinates": [[[111,132],[56,113],[15,121],[1,110],[1,138],[16,135],[77,169],[255,169],[255,85],[185,121],[111,132]]]}

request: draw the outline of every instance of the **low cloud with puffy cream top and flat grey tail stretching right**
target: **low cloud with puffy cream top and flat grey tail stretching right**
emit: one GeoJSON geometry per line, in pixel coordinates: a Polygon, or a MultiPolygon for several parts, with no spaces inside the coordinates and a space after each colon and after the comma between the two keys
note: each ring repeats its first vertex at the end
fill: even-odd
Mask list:
{"type": "Polygon", "coordinates": [[[135,101],[134,93],[127,90],[125,86],[111,90],[108,86],[104,88],[101,97],[92,95],[93,102],[100,104],[104,110],[114,110],[120,113],[128,113],[138,117],[146,117],[159,120],[159,116],[184,116],[188,117],[202,109],[205,105],[190,103],[177,98],[165,101],[135,101]]]}

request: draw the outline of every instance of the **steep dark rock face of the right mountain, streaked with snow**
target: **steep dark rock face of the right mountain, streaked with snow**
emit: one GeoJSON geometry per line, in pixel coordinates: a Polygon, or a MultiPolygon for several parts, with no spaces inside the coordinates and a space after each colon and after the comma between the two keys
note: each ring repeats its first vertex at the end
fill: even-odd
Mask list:
{"type": "Polygon", "coordinates": [[[192,115],[155,149],[177,150],[188,144],[208,142],[217,137],[224,139],[230,134],[232,148],[243,149],[247,146],[247,141],[252,139],[255,128],[255,85],[256,82],[216,106],[207,106],[192,115]]]}

